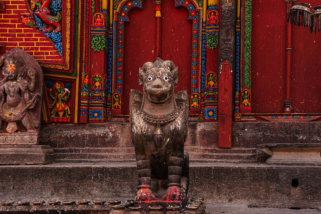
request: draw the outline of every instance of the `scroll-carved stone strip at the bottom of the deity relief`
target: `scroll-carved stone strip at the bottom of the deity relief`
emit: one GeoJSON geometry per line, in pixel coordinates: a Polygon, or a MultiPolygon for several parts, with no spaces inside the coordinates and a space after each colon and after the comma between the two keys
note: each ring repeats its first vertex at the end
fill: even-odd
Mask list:
{"type": "Polygon", "coordinates": [[[36,145],[38,132],[0,133],[0,144],[36,145]]]}

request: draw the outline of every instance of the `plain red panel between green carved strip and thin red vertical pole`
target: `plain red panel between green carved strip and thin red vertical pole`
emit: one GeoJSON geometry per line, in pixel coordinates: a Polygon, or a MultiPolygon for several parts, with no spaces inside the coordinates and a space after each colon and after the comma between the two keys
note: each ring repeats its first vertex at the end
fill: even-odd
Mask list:
{"type": "Polygon", "coordinates": [[[252,113],[282,113],[286,5],[252,1],[252,113]]]}

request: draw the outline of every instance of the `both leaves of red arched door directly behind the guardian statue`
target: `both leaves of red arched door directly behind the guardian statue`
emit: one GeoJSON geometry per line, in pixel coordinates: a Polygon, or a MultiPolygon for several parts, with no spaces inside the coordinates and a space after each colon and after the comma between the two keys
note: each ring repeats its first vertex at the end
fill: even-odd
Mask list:
{"type": "MultiPolygon", "coordinates": [[[[145,62],[154,62],[156,56],[155,0],[143,0],[141,9],[128,13],[129,22],[124,26],[124,82],[122,114],[129,114],[129,92],[142,91],[138,86],[138,68],[145,62]]],[[[178,66],[179,90],[191,91],[192,21],[184,7],[175,8],[173,0],[161,2],[161,55],[178,66]]]]}

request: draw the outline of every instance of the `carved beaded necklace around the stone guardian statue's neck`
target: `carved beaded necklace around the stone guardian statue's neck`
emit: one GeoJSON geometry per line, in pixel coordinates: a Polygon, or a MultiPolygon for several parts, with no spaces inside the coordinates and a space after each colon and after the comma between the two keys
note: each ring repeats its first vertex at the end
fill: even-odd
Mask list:
{"type": "Polygon", "coordinates": [[[145,101],[146,100],[146,96],[144,95],[143,97],[143,103],[142,106],[140,108],[140,116],[143,117],[143,119],[154,126],[160,127],[166,124],[169,124],[170,122],[173,122],[176,117],[177,117],[177,113],[178,113],[178,107],[176,104],[175,99],[173,100],[174,102],[174,109],[172,112],[170,112],[169,114],[166,115],[160,115],[160,116],[156,116],[156,115],[151,115],[149,113],[147,113],[146,111],[144,111],[144,105],[145,105],[145,101]]]}

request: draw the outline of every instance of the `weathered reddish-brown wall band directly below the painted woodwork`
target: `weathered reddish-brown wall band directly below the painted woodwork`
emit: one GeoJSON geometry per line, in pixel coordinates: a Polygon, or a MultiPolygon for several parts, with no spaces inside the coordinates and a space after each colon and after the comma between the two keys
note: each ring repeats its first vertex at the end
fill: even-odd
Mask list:
{"type": "MultiPolygon", "coordinates": [[[[321,122],[232,123],[232,147],[259,143],[321,143],[321,122]]],[[[132,147],[129,123],[42,124],[40,144],[51,147],[132,147]]],[[[190,123],[187,146],[217,147],[218,123],[190,123]]]]}

